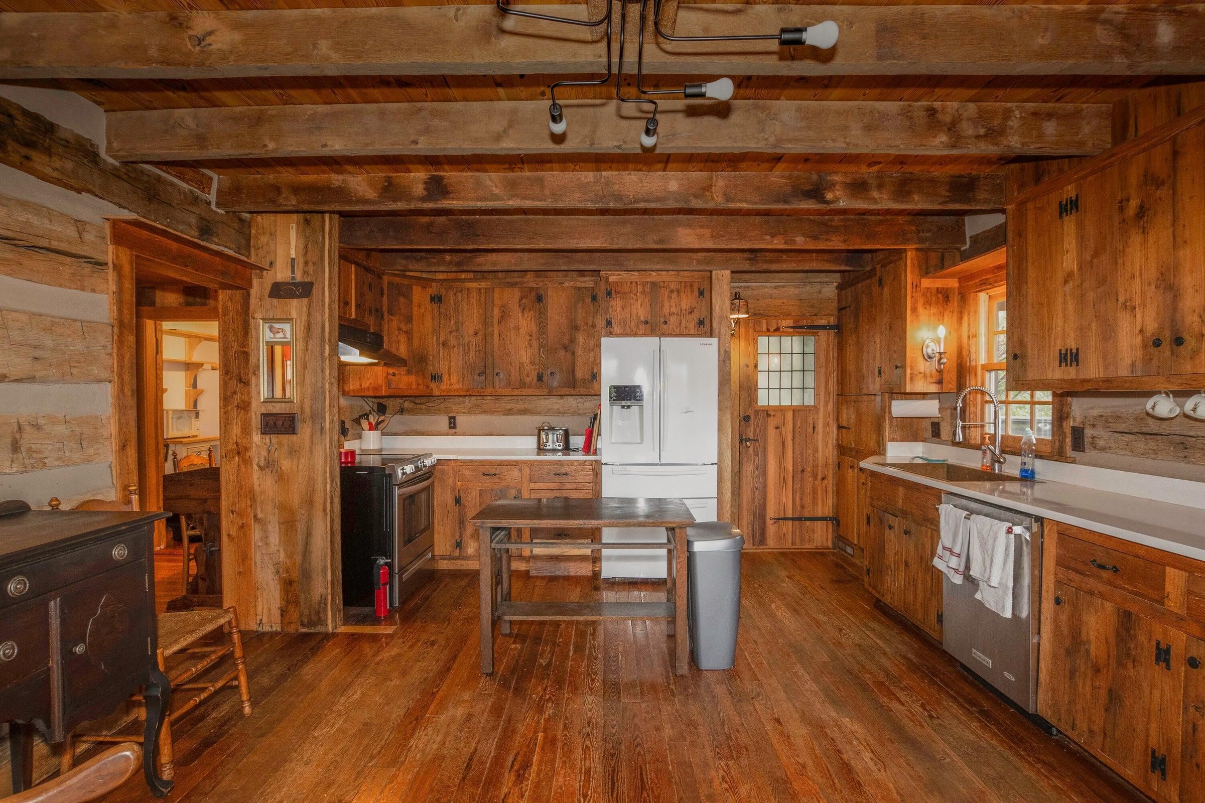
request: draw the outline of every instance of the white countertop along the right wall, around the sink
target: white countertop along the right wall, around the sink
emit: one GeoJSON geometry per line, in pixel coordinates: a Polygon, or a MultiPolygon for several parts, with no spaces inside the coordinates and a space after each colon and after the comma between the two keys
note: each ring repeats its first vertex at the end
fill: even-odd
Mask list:
{"type": "MultiPolygon", "coordinates": [[[[978,452],[970,450],[956,451],[969,452],[971,456],[978,457],[978,452]]],[[[941,456],[946,457],[946,455],[941,456]]],[[[862,467],[970,499],[978,499],[1010,510],[1075,524],[1122,540],[1205,561],[1205,510],[1201,508],[1135,497],[1086,485],[1044,481],[1041,480],[1041,463],[1039,464],[1040,481],[1038,482],[950,482],[912,474],[895,467],[907,464],[909,459],[906,456],[890,458],[878,456],[863,461],[862,467]]],[[[950,462],[963,465],[974,464],[974,462],[959,459],[950,462]]],[[[1169,480],[1168,482],[1176,481],[1169,480]]],[[[1205,503],[1205,494],[1198,498],[1205,503]]]]}

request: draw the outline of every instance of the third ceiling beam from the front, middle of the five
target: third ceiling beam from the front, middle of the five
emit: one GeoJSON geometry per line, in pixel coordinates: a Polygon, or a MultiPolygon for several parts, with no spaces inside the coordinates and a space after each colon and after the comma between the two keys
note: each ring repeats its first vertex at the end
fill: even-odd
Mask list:
{"type": "Polygon", "coordinates": [[[424,209],[1004,207],[1001,174],[935,172],[433,172],[231,175],[218,209],[242,212],[424,209]]]}

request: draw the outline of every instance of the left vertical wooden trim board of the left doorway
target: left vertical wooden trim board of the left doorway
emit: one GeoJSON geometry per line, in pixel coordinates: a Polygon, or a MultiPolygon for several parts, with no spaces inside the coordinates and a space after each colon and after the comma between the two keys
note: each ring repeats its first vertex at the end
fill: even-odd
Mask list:
{"type": "MultiPolygon", "coordinates": [[[[112,229],[112,223],[108,224],[112,229]]],[[[110,246],[110,321],[112,321],[113,487],[139,482],[137,323],[134,252],[110,246]]],[[[143,508],[143,510],[149,510],[143,508]]]]}

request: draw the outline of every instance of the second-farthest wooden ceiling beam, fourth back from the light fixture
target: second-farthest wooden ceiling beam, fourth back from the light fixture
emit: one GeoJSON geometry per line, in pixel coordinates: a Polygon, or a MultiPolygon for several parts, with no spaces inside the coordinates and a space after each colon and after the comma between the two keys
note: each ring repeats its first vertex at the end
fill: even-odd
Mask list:
{"type": "Polygon", "coordinates": [[[958,216],[396,216],[345,217],[349,248],[674,251],[960,248],[958,216]]]}

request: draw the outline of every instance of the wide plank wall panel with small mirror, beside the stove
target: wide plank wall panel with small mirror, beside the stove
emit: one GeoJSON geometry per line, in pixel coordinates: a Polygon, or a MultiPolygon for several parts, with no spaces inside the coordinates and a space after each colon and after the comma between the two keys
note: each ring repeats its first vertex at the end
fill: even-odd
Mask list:
{"type": "MultiPolygon", "coordinates": [[[[261,629],[339,627],[342,591],[339,550],[339,218],[330,215],[261,215],[252,221],[255,277],[252,321],[293,318],[293,403],[259,402],[261,412],[296,412],[296,435],[253,429],[257,619],[261,629]],[[289,275],[289,227],[296,227],[298,279],[313,281],[310,299],[269,299],[268,285],[289,275]]],[[[251,374],[258,381],[255,350],[251,374]]]]}

